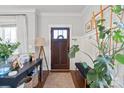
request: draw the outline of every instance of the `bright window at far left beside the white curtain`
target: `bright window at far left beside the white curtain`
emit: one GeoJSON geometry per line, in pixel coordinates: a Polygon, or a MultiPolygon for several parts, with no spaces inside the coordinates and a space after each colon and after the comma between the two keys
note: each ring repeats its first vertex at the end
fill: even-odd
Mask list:
{"type": "Polygon", "coordinates": [[[0,37],[5,41],[12,43],[17,41],[16,25],[1,25],[0,26],[0,37]]]}

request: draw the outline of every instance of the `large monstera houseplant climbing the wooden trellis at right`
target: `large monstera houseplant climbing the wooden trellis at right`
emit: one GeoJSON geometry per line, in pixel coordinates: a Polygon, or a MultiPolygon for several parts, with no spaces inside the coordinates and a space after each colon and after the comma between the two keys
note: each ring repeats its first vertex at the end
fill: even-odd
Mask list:
{"type": "MultiPolygon", "coordinates": [[[[96,47],[99,55],[93,60],[88,53],[82,51],[94,64],[94,68],[89,69],[87,73],[87,82],[93,88],[111,87],[115,62],[124,64],[124,54],[122,53],[124,50],[124,23],[121,18],[123,9],[120,5],[111,6],[111,9],[119,19],[119,21],[113,22],[116,27],[105,26],[103,23],[106,19],[96,20],[96,29],[98,30],[96,47]]],[[[79,45],[73,45],[69,52],[70,58],[74,58],[79,51],[81,51],[79,45]]]]}

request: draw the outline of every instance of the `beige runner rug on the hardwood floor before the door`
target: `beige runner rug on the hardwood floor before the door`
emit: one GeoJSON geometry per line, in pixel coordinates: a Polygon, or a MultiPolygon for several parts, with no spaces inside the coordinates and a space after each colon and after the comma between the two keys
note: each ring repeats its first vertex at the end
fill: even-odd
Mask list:
{"type": "Polygon", "coordinates": [[[44,88],[75,88],[70,72],[50,72],[44,88]]]}

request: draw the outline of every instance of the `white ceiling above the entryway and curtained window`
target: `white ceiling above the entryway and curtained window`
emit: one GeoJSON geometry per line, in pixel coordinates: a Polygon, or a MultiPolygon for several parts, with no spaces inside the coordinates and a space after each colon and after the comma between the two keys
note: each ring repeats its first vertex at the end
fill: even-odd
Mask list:
{"type": "Polygon", "coordinates": [[[0,9],[37,9],[45,13],[80,13],[85,5],[0,5],[0,9]]]}

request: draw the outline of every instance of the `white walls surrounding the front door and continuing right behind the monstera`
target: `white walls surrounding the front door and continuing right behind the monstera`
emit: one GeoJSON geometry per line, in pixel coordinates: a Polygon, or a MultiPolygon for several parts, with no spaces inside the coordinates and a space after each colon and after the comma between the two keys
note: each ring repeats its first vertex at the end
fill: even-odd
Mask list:
{"type": "MultiPolygon", "coordinates": [[[[77,38],[77,43],[80,48],[90,54],[95,58],[97,50],[91,45],[91,42],[95,42],[89,39],[91,33],[85,33],[85,24],[92,17],[92,13],[99,11],[99,6],[85,6],[83,11],[79,14],[57,14],[57,13],[43,13],[38,15],[38,32],[37,36],[42,36],[46,39],[46,55],[49,62],[49,67],[51,68],[51,42],[50,42],[50,26],[70,26],[71,27],[71,44],[73,44],[72,39],[77,38]],[[95,51],[95,52],[94,52],[95,51]]],[[[91,37],[90,37],[91,38],[91,37]]],[[[94,37],[92,37],[94,38],[94,37]]],[[[93,67],[91,60],[84,54],[78,53],[75,59],[70,60],[70,69],[75,69],[75,62],[87,62],[89,66],[93,67]]]]}

